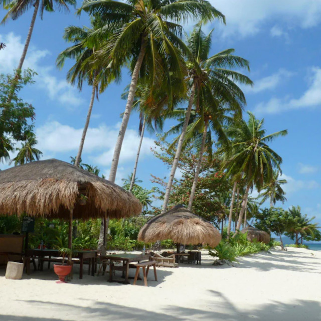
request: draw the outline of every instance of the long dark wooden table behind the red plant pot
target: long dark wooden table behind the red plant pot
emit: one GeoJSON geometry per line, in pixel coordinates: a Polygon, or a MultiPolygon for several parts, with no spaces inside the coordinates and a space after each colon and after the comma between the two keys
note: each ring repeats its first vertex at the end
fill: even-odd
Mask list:
{"type": "MultiPolygon", "coordinates": [[[[32,250],[28,250],[27,252],[27,256],[29,257],[38,257],[39,259],[39,269],[43,270],[43,258],[45,256],[49,257],[49,260],[52,257],[61,257],[61,253],[59,250],[53,250],[53,249],[32,249],[32,250]]],[[[72,258],[78,258],[79,259],[79,263],[80,263],[80,267],[79,267],[79,278],[82,279],[83,277],[83,265],[84,265],[84,259],[90,259],[89,262],[89,271],[91,268],[91,275],[94,276],[95,275],[95,264],[96,264],[96,257],[97,257],[97,251],[96,250],[79,250],[77,251],[77,253],[74,253],[72,255],[72,258]]],[[[88,274],[89,274],[88,271],[88,274]]]]}

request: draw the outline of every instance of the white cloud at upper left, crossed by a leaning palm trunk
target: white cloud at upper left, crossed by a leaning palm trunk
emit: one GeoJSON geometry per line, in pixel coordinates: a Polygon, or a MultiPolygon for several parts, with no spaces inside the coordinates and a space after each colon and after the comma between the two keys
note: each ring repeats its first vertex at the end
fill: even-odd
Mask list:
{"type": "MultiPolygon", "coordinates": [[[[18,66],[24,43],[21,37],[14,33],[0,35],[0,41],[7,45],[4,50],[0,51],[0,72],[12,73],[18,66]]],[[[31,44],[23,68],[31,68],[38,73],[38,76],[35,77],[36,84],[34,86],[38,86],[47,92],[51,100],[57,100],[68,107],[79,106],[83,103],[83,99],[80,98],[78,90],[71,87],[65,79],[58,79],[52,75],[56,67],[42,64],[44,58],[49,55],[48,50],[38,50],[31,44]]],[[[63,74],[62,77],[64,77],[63,74]]]]}

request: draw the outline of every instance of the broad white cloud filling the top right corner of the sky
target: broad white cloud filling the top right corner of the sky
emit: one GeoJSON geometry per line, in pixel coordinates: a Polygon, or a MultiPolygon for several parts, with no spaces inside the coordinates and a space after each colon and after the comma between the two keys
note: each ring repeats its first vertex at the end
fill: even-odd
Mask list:
{"type": "Polygon", "coordinates": [[[223,36],[251,36],[269,22],[311,28],[321,21],[321,0],[210,0],[226,16],[223,36]]]}

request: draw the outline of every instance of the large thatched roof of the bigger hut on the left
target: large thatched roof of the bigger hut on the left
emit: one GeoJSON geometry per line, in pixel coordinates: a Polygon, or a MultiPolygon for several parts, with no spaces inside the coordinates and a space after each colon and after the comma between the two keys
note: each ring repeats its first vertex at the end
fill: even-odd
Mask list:
{"type": "Polygon", "coordinates": [[[0,172],[0,213],[68,218],[128,217],[140,202],[119,186],[57,159],[32,162],[0,172]],[[80,205],[80,195],[88,197],[80,205]]]}

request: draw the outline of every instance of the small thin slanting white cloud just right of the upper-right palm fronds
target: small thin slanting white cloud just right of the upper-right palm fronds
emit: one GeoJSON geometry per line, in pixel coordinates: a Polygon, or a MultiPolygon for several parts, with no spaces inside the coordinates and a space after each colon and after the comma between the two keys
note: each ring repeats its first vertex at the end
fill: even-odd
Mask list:
{"type": "Polygon", "coordinates": [[[284,83],[286,78],[293,76],[294,73],[287,71],[285,69],[280,69],[275,74],[270,76],[261,78],[259,80],[254,81],[253,87],[245,87],[244,92],[247,93],[259,93],[265,90],[273,90],[281,83],[284,83]]]}

